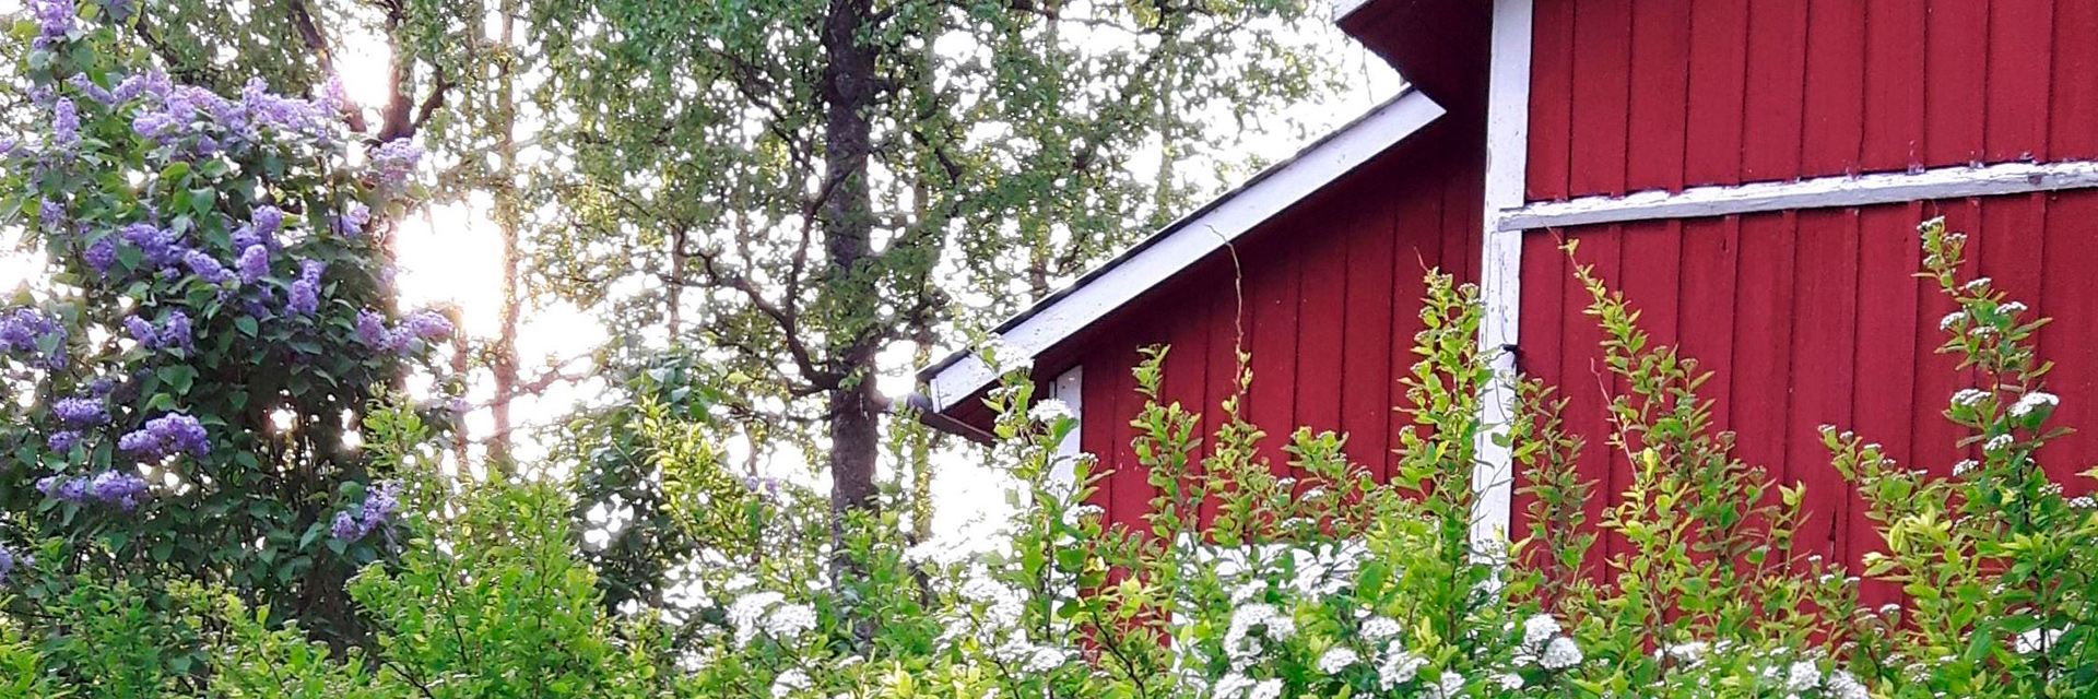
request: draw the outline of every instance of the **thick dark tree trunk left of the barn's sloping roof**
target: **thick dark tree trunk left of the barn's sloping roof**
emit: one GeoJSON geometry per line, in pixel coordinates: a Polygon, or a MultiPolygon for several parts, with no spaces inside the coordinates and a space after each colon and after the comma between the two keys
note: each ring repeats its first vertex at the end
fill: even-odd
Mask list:
{"type": "Polygon", "coordinates": [[[822,23],[825,67],[822,97],[825,143],[822,164],[829,185],[822,199],[822,237],[829,256],[827,294],[833,306],[845,311],[850,342],[837,355],[831,388],[831,512],[837,518],[850,510],[875,508],[875,460],[881,453],[881,399],[875,395],[873,359],[879,327],[875,288],[860,279],[858,267],[873,254],[873,195],[866,183],[869,109],[875,103],[875,48],[860,42],[871,0],[831,0],[822,23]]]}

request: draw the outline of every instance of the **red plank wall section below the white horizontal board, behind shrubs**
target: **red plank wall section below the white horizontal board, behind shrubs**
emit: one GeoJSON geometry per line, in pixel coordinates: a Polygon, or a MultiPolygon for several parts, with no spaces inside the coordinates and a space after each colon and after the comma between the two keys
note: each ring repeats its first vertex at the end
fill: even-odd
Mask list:
{"type": "MultiPolygon", "coordinates": [[[[2098,191],[1890,204],[1752,216],[1664,220],[1540,231],[1523,248],[1521,369],[1571,399],[1569,428],[1590,443],[1582,470],[1605,493],[1630,483],[1622,456],[1603,449],[1599,330],[1580,315],[1586,292],[1557,250],[1580,239],[1594,264],[1645,311],[1660,344],[1676,344],[1716,372],[1704,397],[1716,422],[1739,435],[1737,453],[1781,483],[1806,483],[1813,512],[1800,539],[1832,560],[1859,563],[1878,542],[1871,521],[1829,466],[1817,428],[1836,424],[1878,441],[1903,464],[1949,472],[1972,449],[1939,414],[1964,386],[1957,359],[1936,355],[1939,319],[1953,304],[1936,283],[1913,279],[1922,264],[1915,225],[1947,216],[1974,235],[1970,262],[2037,315],[2048,386],[2062,395],[2058,424],[2081,426],[2041,453],[2064,483],[2098,462],[2098,191]]],[[[1517,500],[1517,512],[1527,506],[1517,500]]],[[[1590,504],[1597,514],[1603,500],[1590,504]]],[[[1590,521],[1597,521],[1590,516],[1590,521]]],[[[1521,525],[1517,531],[1523,531],[1521,525]]],[[[1605,542],[1605,552],[1615,552],[1605,542]]],[[[1878,590],[1878,594],[1892,594],[1878,590]]]]}

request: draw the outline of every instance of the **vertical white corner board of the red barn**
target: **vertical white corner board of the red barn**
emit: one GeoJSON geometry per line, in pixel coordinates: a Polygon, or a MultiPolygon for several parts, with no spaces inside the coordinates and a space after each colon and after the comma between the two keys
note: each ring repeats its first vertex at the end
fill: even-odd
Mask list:
{"type": "MultiPolygon", "coordinates": [[[[1473,466],[1475,546],[1508,535],[1515,502],[1515,456],[1500,445],[1515,416],[1515,340],[1523,309],[1523,235],[1500,233],[1500,212],[1523,206],[1529,172],[1529,23],[1532,0],[1494,2],[1492,67],[1485,103],[1485,231],[1479,237],[1479,351],[1494,357],[1494,380],[1481,397],[1473,466]]],[[[1492,548],[1485,548],[1492,550],[1492,548]]]]}

